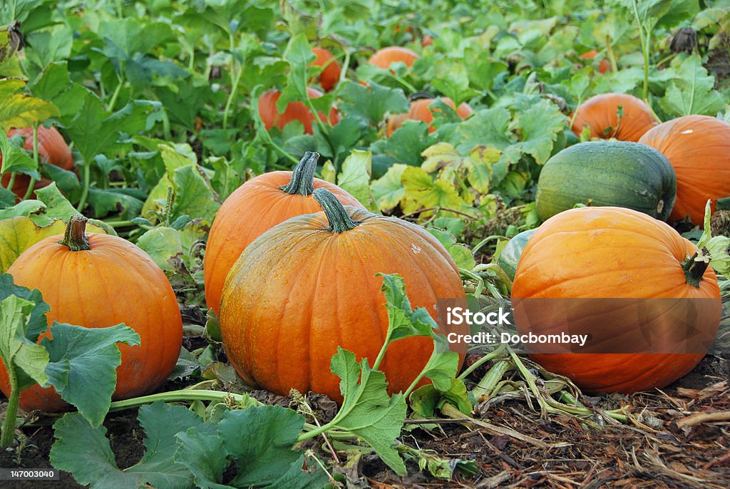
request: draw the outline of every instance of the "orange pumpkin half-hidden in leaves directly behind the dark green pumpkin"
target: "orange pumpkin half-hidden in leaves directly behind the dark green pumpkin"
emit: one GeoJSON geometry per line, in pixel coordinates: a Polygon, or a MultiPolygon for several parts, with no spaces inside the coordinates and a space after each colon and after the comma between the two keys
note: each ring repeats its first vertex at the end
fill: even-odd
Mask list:
{"type": "Polygon", "coordinates": [[[591,137],[637,142],[656,126],[656,120],[642,99],[624,93],[604,93],[591,97],[576,109],[572,130],[580,136],[583,126],[591,128],[591,137]],[[623,107],[621,121],[618,106],[623,107]]]}

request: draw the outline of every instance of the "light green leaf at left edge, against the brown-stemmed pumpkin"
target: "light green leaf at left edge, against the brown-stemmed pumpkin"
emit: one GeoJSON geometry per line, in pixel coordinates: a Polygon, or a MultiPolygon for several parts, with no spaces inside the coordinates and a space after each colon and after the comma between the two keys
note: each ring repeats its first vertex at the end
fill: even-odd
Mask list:
{"type": "Polygon", "coordinates": [[[39,384],[45,384],[48,352],[26,337],[34,307],[34,302],[15,295],[0,301],[0,356],[9,368],[17,367],[39,384]]]}

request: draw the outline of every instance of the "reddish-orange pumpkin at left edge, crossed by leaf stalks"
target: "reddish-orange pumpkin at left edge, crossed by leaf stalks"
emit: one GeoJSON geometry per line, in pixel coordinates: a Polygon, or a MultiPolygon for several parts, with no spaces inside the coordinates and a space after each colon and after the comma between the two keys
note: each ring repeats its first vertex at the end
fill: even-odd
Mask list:
{"type": "MultiPolygon", "coordinates": [[[[23,148],[28,151],[33,151],[33,128],[10,129],[7,136],[12,137],[16,134],[20,134],[20,136],[26,138],[26,141],[23,143],[23,148]]],[[[69,145],[66,145],[64,136],[61,136],[61,133],[55,127],[46,128],[45,126],[38,126],[38,154],[46,163],[60,166],[64,170],[70,170],[74,166],[74,157],[71,154],[69,145]]],[[[0,154],[1,163],[2,155],[0,154]]],[[[2,185],[6,186],[9,181],[10,175],[4,174],[1,180],[2,185]]],[[[16,196],[22,199],[26,195],[30,182],[31,178],[28,175],[15,175],[15,182],[13,182],[11,190],[16,196]]],[[[35,188],[43,188],[48,184],[50,184],[50,180],[42,178],[36,182],[35,188]]]]}

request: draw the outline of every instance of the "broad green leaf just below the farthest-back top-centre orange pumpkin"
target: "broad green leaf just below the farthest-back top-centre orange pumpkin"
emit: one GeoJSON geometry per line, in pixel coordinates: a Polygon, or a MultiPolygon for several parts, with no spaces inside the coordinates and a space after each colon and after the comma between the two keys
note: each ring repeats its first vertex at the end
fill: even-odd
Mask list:
{"type": "Polygon", "coordinates": [[[369,82],[368,86],[345,81],[339,91],[339,110],[345,115],[366,120],[377,126],[383,116],[408,112],[409,104],[400,88],[388,88],[369,82]]]}

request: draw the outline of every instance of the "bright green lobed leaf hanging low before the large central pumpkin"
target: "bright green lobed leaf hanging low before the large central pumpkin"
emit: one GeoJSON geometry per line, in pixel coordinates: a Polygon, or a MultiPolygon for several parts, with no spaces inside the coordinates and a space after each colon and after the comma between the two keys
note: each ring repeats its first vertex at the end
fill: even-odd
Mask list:
{"type": "Polygon", "coordinates": [[[370,369],[364,358],[359,364],[355,354],[342,348],[332,357],[331,371],[340,379],[344,401],[333,420],[340,428],[364,439],[396,474],[406,467],[393,448],[406,417],[406,401],[401,394],[389,397],[385,374],[370,369]]]}

